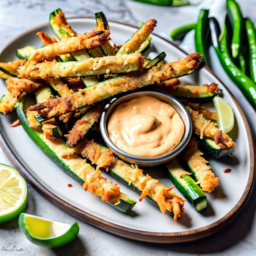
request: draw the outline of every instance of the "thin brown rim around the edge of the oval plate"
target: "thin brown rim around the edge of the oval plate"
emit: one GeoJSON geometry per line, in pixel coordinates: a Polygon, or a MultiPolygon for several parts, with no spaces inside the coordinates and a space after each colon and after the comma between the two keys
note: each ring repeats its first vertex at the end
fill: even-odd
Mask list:
{"type": "MultiPolygon", "coordinates": [[[[68,19],[79,19],[79,18],[91,18],[93,17],[72,17],[68,19]]],[[[136,26],[117,22],[113,20],[109,20],[109,22],[118,23],[121,25],[129,26],[138,28],[136,26]]],[[[32,30],[35,30],[37,28],[40,28],[42,26],[47,26],[49,23],[42,23],[40,25],[34,26],[32,28],[29,28],[25,30],[24,32],[20,33],[13,39],[11,39],[7,44],[5,44],[0,51],[0,56],[2,52],[13,42],[15,42],[19,37],[29,33],[32,30]]],[[[155,36],[161,38],[162,40],[168,42],[169,44],[175,46],[180,51],[184,52],[184,54],[187,54],[184,50],[179,48],[177,45],[175,45],[173,42],[158,36],[154,34],[155,36]]],[[[146,242],[152,242],[152,243],[180,243],[180,242],[188,242],[193,241],[197,239],[201,239],[207,236],[210,236],[211,234],[214,234],[216,232],[219,232],[220,230],[226,228],[230,223],[232,223],[242,212],[244,207],[246,206],[253,187],[254,182],[254,148],[253,148],[253,142],[252,142],[252,134],[249,127],[249,123],[246,119],[246,116],[239,105],[238,101],[235,99],[232,92],[229,90],[229,88],[223,83],[223,81],[208,67],[204,66],[202,68],[207,69],[208,72],[210,72],[216,79],[218,79],[223,86],[227,89],[229,94],[231,95],[233,101],[235,102],[238,110],[240,111],[240,114],[242,116],[242,120],[244,122],[244,125],[246,127],[248,140],[249,140],[249,149],[250,149],[250,171],[249,171],[249,178],[246,185],[246,188],[243,192],[243,195],[241,196],[238,203],[221,219],[198,229],[189,230],[189,231],[182,231],[182,232],[148,232],[148,231],[141,231],[137,229],[127,228],[123,227],[117,224],[114,224],[112,222],[106,221],[104,219],[101,219],[99,217],[96,217],[92,214],[89,214],[86,211],[83,211],[74,205],[68,203],[67,201],[61,199],[54,193],[52,193],[49,189],[47,189],[45,186],[43,186],[30,172],[29,170],[23,165],[23,163],[18,159],[18,157],[14,154],[13,150],[11,149],[10,145],[6,141],[1,129],[0,129],[0,146],[2,147],[5,154],[8,156],[10,162],[14,165],[14,167],[18,168],[21,171],[22,176],[27,180],[27,182],[33,186],[41,195],[43,195],[45,198],[47,198],[50,202],[55,204],[60,209],[66,211],[70,215],[90,224],[95,227],[98,227],[102,230],[108,231],[110,233],[116,234],[121,237],[130,238],[138,241],[146,241],[146,242]]]]}

